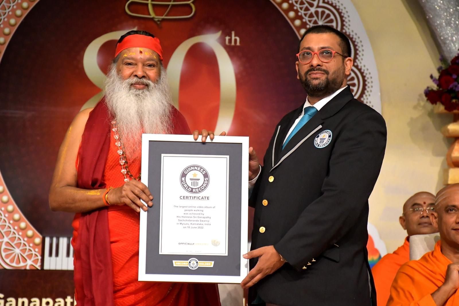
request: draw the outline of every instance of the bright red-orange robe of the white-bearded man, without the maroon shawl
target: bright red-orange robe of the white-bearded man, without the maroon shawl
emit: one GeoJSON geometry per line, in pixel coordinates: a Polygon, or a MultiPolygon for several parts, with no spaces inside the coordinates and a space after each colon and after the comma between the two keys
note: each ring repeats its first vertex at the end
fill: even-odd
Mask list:
{"type": "MultiPolygon", "coordinates": [[[[113,188],[124,184],[119,164],[118,147],[113,131],[105,165],[103,181],[113,188]]],[[[129,159],[129,171],[137,178],[141,158],[129,159]]],[[[72,226],[75,245],[78,239],[78,218],[72,226]]],[[[138,281],[140,214],[129,206],[113,205],[108,208],[108,224],[113,264],[113,297],[115,306],[219,306],[216,284],[172,284],[138,281]],[[207,295],[207,297],[206,297],[207,295]],[[204,299],[204,300],[203,300],[204,299]]],[[[78,293],[78,292],[77,292],[78,293]]]]}

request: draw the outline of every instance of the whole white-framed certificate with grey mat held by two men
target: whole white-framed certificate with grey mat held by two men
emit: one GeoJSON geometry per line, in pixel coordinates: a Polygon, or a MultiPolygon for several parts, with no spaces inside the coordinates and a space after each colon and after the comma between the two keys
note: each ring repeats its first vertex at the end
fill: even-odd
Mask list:
{"type": "Polygon", "coordinates": [[[248,272],[248,137],[142,135],[139,280],[240,283],[248,272]]]}

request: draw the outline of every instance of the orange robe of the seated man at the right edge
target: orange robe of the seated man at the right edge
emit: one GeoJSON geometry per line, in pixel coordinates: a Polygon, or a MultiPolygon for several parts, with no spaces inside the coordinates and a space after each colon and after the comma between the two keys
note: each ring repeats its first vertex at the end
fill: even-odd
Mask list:
{"type": "MultiPolygon", "coordinates": [[[[446,269],[451,261],[441,251],[441,243],[420,260],[405,263],[397,272],[391,286],[387,306],[436,306],[432,293],[445,282],[446,269]]],[[[444,306],[459,305],[456,291],[444,306]]]]}

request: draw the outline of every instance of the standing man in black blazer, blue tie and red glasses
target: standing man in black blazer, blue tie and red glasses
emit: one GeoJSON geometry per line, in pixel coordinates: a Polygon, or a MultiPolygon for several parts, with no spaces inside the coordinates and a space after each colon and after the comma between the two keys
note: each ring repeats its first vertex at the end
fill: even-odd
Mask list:
{"type": "Polygon", "coordinates": [[[381,170],[386,124],[354,99],[349,39],[309,28],[297,78],[308,98],[277,124],[259,166],[249,149],[255,207],[249,305],[369,306],[368,198],[381,170]],[[306,123],[305,123],[306,122],[306,123]]]}

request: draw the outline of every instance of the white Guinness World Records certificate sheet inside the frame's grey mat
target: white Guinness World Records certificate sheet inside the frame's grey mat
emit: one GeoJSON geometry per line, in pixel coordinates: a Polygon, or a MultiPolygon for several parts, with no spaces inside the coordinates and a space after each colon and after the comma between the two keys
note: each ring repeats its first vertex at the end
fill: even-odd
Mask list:
{"type": "Polygon", "coordinates": [[[227,155],[162,154],[159,254],[228,255],[228,167],[227,155]]]}

